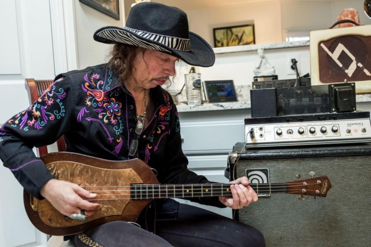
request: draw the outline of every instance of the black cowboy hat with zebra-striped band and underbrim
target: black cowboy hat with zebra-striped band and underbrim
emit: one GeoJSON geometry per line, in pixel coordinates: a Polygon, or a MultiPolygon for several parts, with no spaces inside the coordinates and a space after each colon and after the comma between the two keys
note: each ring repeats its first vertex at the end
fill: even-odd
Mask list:
{"type": "Polygon", "coordinates": [[[215,61],[211,46],[196,33],[188,31],[187,14],[177,7],[161,3],[136,4],[123,28],[102,27],[94,33],[94,40],[158,50],[189,65],[209,67],[215,61]]]}

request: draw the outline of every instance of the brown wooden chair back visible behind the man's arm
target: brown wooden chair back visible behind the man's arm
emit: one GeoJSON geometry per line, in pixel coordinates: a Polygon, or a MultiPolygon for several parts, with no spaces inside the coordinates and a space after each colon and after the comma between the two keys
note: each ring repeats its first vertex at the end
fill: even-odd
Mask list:
{"type": "MultiPolygon", "coordinates": [[[[27,83],[27,88],[28,88],[28,93],[29,93],[29,99],[30,99],[30,104],[35,102],[39,96],[49,88],[50,84],[53,83],[53,80],[35,80],[35,79],[26,79],[27,83]]],[[[59,152],[64,152],[66,151],[66,142],[65,138],[61,136],[58,141],[57,141],[57,146],[58,146],[58,151],[59,152]]],[[[39,156],[43,156],[47,154],[47,147],[42,146],[38,148],[39,151],[39,156]]]]}

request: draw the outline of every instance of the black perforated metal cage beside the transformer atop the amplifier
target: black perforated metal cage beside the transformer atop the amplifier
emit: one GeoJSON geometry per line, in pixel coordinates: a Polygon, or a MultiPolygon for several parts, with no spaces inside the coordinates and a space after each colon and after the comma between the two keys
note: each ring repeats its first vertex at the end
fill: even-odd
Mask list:
{"type": "Polygon", "coordinates": [[[277,88],[278,116],[330,111],[328,85],[277,88]]]}

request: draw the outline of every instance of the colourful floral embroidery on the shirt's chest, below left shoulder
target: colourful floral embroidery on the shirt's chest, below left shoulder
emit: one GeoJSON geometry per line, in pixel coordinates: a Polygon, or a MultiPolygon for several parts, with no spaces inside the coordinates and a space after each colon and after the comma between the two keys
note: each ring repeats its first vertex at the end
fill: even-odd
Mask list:
{"type": "MultiPolygon", "coordinates": [[[[111,70],[108,73],[111,77],[111,70]]],[[[103,89],[105,87],[105,81],[99,80],[99,77],[100,76],[98,74],[93,74],[90,79],[88,78],[88,74],[84,76],[85,83],[81,85],[81,88],[84,92],[86,92],[87,95],[85,99],[86,107],[83,107],[80,110],[77,116],[77,121],[81,122],[85,113],[88,113],[89,109],[91,109],[90,107],[92,106],[94,108],[93,111],[98,113],[98,118],[88,116],[85,118],[85,120],[89,122],[98,122],[104,132],[107,134],[108,141],[112,143],[115,138],[111,136],[107,127],[108,125],[113,125],[116,135],[120,135],[122,133],[124,124],[122,123],[121,118],[119,118],[119,116],[121,116],[122,105],[121,102],[116,101],[116,97],[119,96],[119,93],[117,91],[104,91],[103,89]]],[[[109,82],[111,82],[110,79],[109,82]]],[[[106,85],[106,89],[108,88],[108,85],[106,85]]],[[[116,142],[118,142],[118,144],[112,151],[114,154],[118,154],[121,150],[121,137],[116,139],[116,142]]]]}

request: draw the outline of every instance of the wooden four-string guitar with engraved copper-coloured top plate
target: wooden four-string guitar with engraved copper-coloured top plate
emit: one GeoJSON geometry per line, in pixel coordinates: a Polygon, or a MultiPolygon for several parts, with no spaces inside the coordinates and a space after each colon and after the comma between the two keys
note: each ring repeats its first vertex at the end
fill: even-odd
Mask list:
{"type": "MultiPolygon", "coordinates": [[[[47,200],[37,200],[24,191],[24,206],[32,224],[43,233],[55,236],[81,233],[110,221],[135,222],[143,208],[157,198],[232,195],[230,184],[159,184],[152,169],[140,159],[109,161],[69,152],[50,153],[41,159],[57,179],[96,193],[95,198],[85,200],[102,205],[85,221],[75,220],[59,213],[47,200]]],[[[325,197],[331,183],[324,176],[250,186],[257,194],[325,197]]]]}

